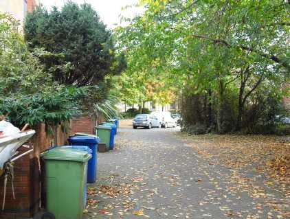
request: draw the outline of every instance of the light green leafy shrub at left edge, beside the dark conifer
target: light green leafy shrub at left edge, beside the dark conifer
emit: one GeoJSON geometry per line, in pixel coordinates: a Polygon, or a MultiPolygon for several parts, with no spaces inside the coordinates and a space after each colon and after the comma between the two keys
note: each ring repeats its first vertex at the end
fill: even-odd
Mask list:
{"type": "Polygon", "coordinates": [[[51,82],[43,73],[38,58],[27,51],[17,23],[7,14],[0,14],[0,96],[13,93],[34,93],[51,82]]]}

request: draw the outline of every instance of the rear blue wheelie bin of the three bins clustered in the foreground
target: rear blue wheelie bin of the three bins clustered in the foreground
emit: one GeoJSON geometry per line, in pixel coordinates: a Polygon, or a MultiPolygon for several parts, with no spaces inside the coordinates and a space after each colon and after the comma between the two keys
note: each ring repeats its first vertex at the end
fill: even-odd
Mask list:
{"type": "Polygon", "coordinates": [[[74,136],[69,137],[72,146],[88,146],[92,151],[92,158],[88,162],[87,182],[95,183],[97,180],[97,159],[98,159],[98,137],[74,136]]]}

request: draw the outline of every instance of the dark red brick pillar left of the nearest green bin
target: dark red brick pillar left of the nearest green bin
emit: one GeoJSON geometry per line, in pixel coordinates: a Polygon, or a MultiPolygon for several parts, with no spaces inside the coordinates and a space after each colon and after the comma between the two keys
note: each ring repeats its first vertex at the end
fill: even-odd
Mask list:
{"type": "MultiPolygon", "coordinates": [[[[19,152],[30,150],[21,147],[19,152]]],[[[38,211],[40,201],[40,172],[38,159],[27,154],[14,162],[14,193],[12,183],[8,180],[5,209],[0,211],[0,218],[30,218],[38,211]]],[[[0,203],[3,203],[4,176],[0,176],[0,203]]]]}

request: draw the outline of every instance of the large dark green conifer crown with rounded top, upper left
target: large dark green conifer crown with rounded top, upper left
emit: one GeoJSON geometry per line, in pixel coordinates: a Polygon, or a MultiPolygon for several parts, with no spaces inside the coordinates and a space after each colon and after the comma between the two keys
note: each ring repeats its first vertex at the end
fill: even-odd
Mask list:
{"type": "Polygon", "coordinates": [[[124,55],[115,56],[111,31],[87,3],[68,1],[51,12],[38,7],[27,14],[24,33],[30,49],[46,51],[38,56],[61,84],[95,85],[126,67],[124,55]]]}

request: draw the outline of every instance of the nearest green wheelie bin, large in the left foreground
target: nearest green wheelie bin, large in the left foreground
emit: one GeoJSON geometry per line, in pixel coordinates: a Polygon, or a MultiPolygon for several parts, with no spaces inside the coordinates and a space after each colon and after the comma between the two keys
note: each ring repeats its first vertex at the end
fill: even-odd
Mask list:
{"type": "Polygon", "coordinates": [[[46,210],[56,219],[81,219],[87,161],[91,154],[74,149],[53,148],[45,159],[46,210]]]}

